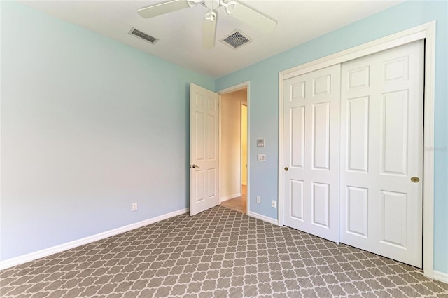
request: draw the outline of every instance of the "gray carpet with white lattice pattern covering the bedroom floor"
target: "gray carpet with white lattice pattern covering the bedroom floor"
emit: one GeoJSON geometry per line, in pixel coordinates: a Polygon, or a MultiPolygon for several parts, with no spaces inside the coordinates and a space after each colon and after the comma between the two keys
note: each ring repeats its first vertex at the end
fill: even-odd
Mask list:
{"type": "Polygon", "coordinates": [[[1,297],[448,297],[412,266],[217,206],[0,271],[1,297]]]}

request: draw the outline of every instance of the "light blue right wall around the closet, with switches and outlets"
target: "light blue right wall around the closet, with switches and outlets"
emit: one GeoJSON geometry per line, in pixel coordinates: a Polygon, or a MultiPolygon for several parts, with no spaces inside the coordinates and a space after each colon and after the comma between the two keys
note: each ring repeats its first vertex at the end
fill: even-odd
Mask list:
{"type": "MultiPolygon", "coordinates": [[[[305,62],[358,46],[367,41],[400,32],[432,20],[437,21],[435,69],[435,241],[434,269],[448,273],[448,2],[407,1],[351,25],[297,46],[258,64],[216,80],[216,90],[244,81],[251,82],[249,102],[251,130],[251,169],[249,188],[251,211],[277,218],[270,201],[278,189],[278,114],[279,72],[305,62]],[[257,138],[265,138],[266,147],[256,147],[257,138]],[[267,154],[266,162],[257,162],[258,153],[267,154]],[[262,196],[262,204],[255,197],[262,196]]],[[[297,29],[300,34],[300,29],[297,29]]]]}

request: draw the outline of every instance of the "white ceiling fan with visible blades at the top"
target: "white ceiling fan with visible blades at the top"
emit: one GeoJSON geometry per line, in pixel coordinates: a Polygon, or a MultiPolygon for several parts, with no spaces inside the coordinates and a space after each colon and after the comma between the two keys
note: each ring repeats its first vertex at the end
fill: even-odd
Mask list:
{"type": "Polygon", "coordinates": [[[214,48],[217,18],[215,10],[219,6],[225,7],[225,11],[232,17],[245,22],[264,34],[271,32],[276,26],[276,21],[272,18],[262,15],[253,8],[234,0],[171,0],[141,8],[138,13],[143,18],[153,18],[172,11],[179,11],[183,8],[190,8],[202,2],[209,10],[204,16],[202,25],[202,48],[204,50],[214,48]]]}

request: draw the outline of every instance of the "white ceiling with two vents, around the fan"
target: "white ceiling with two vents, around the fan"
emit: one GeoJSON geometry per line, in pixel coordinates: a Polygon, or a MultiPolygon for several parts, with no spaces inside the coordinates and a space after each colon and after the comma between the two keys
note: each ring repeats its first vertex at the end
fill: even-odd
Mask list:
{"type": "Polygon", "coordinates": [[[20,2],[213,78],[235,72],[402,2],[239,0],[274,18],[277,21],[274,31],[261,34],[220,7],[215,47],[202,50],[202,20],[207,12],[204,6],[197,5],[151,19],[137,14],[139,8],[165,1],[20,2]],[[154,45],[142,41],[128,34],[131,27],[160,40],[154,45]],[[235,29],[241,29],[253,41],[237,50],[219,41],[235,29]]]}

